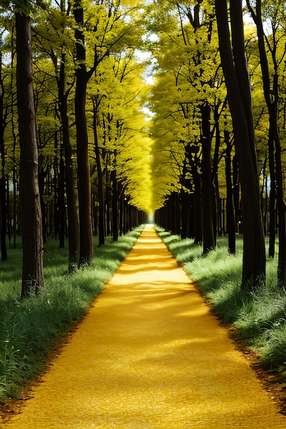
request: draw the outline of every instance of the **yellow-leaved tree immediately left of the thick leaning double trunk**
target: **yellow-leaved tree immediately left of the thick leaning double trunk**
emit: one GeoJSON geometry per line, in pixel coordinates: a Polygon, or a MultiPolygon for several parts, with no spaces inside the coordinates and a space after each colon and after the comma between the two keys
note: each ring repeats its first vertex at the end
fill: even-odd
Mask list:
{"type": "MultiPolygon", "coordinates": [[[[171,17],[166,11],[167,21],[176,17],[177,22],[172,25],[173,30],[169,29],[168,22],[160,27],[160,46],[163,49],[155,49],[158,68],[163,72],[158,73],[152,91],[152,105],[156,112],[152,134],[156,138],[160,136],[162,150],[171,151],[174,158],[171,168],[175,170],[174,160],[178,164],[176,171],[182,196],[182,228],[186,223],[191,223],[191,219],[186,219],[188,211],[184,206],[188,198],[184,194],[192,193],[195,196],[196,210],[191,213],[198,227],[195,228],[195,241],[202,241],[203,252],[207,254],[215,248],[216,212],[219,207],[218,186],[215,184],[217,163],[221,159],[219,118],[226,106],[217,54],[214,8],[201,1],[188,4],[177,2],[176,5],[163,1],[160,7],[162,3],[166,8],[167,5],[174,8],[171,17]],[[161,76],[163,73],[166,77],[161,76]],[[164,92],[160,89],[163,80],[164,92]],[[158,90],[160,95],[157,97],[158,90]],[[158,126],[159,121],[165,125],[158,126]]],[[[162,16],[158,16],[157,23],[161,21],[162,16]]]]}

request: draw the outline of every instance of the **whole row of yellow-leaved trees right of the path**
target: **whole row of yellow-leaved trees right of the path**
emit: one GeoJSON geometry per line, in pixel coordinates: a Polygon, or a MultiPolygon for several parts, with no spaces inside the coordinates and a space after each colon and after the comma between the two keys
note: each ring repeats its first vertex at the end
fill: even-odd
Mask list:
{"type": "Polygon", "coordinates": [[[242,232],[243,286],[264,281],[265,236],[273,257],[278,234],[284,285],[285,3],[156,6],[152,175],[156,201],[166,199],[156,222],[195,238],[204,254],[224,233],[235,253],[242,232]]]}

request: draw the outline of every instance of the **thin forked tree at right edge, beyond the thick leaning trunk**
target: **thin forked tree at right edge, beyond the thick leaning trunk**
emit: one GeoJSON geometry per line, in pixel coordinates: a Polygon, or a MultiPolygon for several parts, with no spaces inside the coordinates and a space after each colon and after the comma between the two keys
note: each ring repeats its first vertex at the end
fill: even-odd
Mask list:
{"type": "MultiPolygon", "coordinates": [[[[283,53],[281,58],[278,60],[278,42],[280,36],[278,34],[278,28],[280,25],[285,25],[285,12],[284,3],[277,2],[271,4],[270,7],[264,4],[265,10],[267,10],[267,16],[270,20],[272,27],[272,34],[270,38],[267,38],[263,29],[263,10],[261,8],[261,0],[256,1],[256,8],[250,5],[250,1],[247,0],[248,8],[250,10],[252,19],[257,26],[257,38],[259,45],[259,56],[260,65],[263,77],[263,92],[269,114],[269,128],[268,128],[268,147],[269,147],[269,166],[270,166],[270,204],[272,207],[277,201],[278,207],[278,236],[279,236],[279,250],[278,250],[278,282],[279,284],[285,285],[286,282],[286,205],[283,195],[283,172],[281,164],[281,142],[278,133],[278,66],[279,62],[283,62],[285,58],[286,48],[283,42],[283,53]],[[283,23],[279,21],[283,20],[283,23]],[[272,40],[272,45],[270,42],[272,40]],[[267,48],[265,46],[267,45],[267,48]],[[271,63],[269,64],[267,50],[271,53],[271,63]],[[271,71],[270,71],[271,69],[271,71]]],[[[284,34],[284,32],[283,32],[284,34]]],[[[275,216],[274,210],[270,210],[272,215],[270,221],[274,226],[275,216]]],[[[274,256],[274,243],[275,243],[275,230],[270,230],[270,256],[274,256]]]]}

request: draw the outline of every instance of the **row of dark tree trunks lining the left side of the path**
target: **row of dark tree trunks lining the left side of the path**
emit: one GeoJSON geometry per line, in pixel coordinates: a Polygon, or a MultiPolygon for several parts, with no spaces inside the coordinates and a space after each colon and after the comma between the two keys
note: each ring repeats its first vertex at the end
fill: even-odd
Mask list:
{"type": "MultiPolygon", "coordinates": [[[[60,247],[64,246],[64,236],[68,230],[69,236],[69,271],[75,265],[86,265],[93,258],[93,236],[91,228],[91,180],[88,162],[88,136],[86,130],[86,85],[93,74],[93,69],[87,71],[85,64],[85,47],[83,26],[83,8],[80,0],[75,1],[74,16],[78,27],[75,29],[77,68],[75,71],[75,127],[77,132],[77,161],[78,161],[78,199],[79,222],[76,206],[74,174],[71,144],[69,141],[69,122],[67,115],[67,97],[69,89],[65,79],[64,63],[65,53],[62,52],[60,74],[56,77],[58,82],[58,112],[62,123],[61,147],[58,148],[58,134],[55,134],[55,149],[60,149],[60,156],[56,156],[59,172],[54,174],[54,201],[51,205],[54,219],[48,227],[46,223],[47,204],[44,193],[47,171],[39,170],[38,145],[36,138],[35,100],[32,79],[32,37],[30,12],[33,5],[28,0],[16,1],[16,94],[19,119],[20,156],[20,215],[16,217],[16,205],[18,198],[15,170],[13,173],[13,216],[12,210],[6,209],[6,203],[10,206],[10,183],[5,177],[5,150],[4,150],[4,114],[3,114],[3,78],[0,52],[0,154],[1,154],[1,180],[0,180],[0,241],[2,260],[7,258],[6,232],[11,237],[12,223],[14,228],[14,245],[16,245],[16,232],[20,232],[23,245],[23,270],[22,270],[22,297],[30,293],[40,291],[44,286],[43,275],[43,243],[46,241],[47,229],[54,228],[54,234],[60,238],[60,247]],[[59,158],[59,160],[58,160],[59,158]],[[66,198],[67,195],[67,208],[66,198]],[[66,213],[67,211],[67,213],[66,213]],[[7,220],[9,222],[7,223],[7,220]],[[21,228],[19,228],[21,225],[21,228]],[[53,227],[52,227],[53,225],[53,227]],[[78,228],[80,226],[80,228],[78,228]],[[78,231],[80,230],[80,240],[78,231]],[[78,248],[80,252],[78,252],[78,248]],[[78,256],[79,253],[79,256],[78,256]]],[[[61,1],[61,8],[64,3],[61,1]]],[[[70,86],[71,88],[71,86],[70,86]]],[[[12,101],[11,101],[12,103],[12,101]]],[[[12,103],[13,104],[13,103],[12,103]]],[[[57,113],[58,113],[57,112],[57,113]]],[[[16,143],[16,132],[12,121],[12,135],[16,143]]],[[[14,148],[16,145],[14,145],[14,148]]],[[[99,157],[98,157],[99,159],[99,157]]],[[[56,170],[55,170],[56,171],[56,170]]],[[[114,239],[119,235],[119,214],[117,179],[115,172],[112,179],[112,230],[114,239]]],[[[102,204],[103,206],[103,204],[102,204]]],[[[50,210],[52,212],[52,210],[50,210]]],[[[123,204],[121,225],[124,230],[133,228],[138,221],[143,221],[144,215],[134,208],[123,204]]]]}

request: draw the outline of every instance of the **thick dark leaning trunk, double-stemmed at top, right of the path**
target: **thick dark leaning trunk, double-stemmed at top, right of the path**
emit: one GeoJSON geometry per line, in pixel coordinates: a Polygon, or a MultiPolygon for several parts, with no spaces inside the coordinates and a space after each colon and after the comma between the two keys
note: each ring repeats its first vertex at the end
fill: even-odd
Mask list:
{"type": "Polygon", "coordinates": [[[230,45],[226,0],[215,0],[219,51],[233,118],[235,148],[239,162],[243,212],[242,285],[265,281],[265,239],[259,199],[259,178],[254,147],[250,85],[244,51],[240,0],[230,1],[233,49],[230,45]]]}

